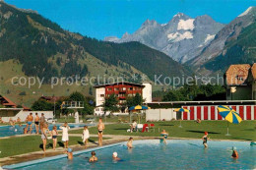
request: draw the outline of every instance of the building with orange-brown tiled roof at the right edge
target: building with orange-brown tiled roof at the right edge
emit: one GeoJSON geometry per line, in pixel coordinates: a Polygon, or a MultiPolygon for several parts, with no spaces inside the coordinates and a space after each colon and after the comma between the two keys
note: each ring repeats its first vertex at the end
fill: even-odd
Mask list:
{"type": "Polygon", "coordinates": [[[226,100],[256,99],[256,64],[230,65],[224,74],[226,100]]]}

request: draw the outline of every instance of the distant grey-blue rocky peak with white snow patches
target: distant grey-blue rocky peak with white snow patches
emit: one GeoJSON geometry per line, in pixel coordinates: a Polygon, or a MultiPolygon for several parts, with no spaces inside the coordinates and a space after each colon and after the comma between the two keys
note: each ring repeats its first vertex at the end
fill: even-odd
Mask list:
{"type": "Polygon", "coordinates": [[[126,32],[121,39],[105,37],[105,40],[118,43],[139,41],[184,63],[199,55],[223,27],[207,15],[192,19],[178,13],[167,24],[147,20],[132,34],[126,32]]]}

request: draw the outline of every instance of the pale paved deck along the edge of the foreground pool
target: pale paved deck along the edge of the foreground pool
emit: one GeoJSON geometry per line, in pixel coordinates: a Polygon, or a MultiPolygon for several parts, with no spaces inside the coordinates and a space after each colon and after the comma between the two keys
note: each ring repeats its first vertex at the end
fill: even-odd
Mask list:
{"type": "MultiPolygon", "coordinates": [[[[131,134],[132,135],[132,134],[131,134]]],[[[70,137],[81,137],[80,134],[70,134],[70,137]]],[[[97,137],[97,135],[91,135],[91,137],[97,137]]],[[[103,145],[109,145],[117,142],[127,142],[128,139],[132,137],[134,140],[158,140],[160,137],[139,137],[139,136],[118,136],[118,135],[103,135],[103,138],[109,138],[107,140],[103,140],[103,145]]],[[[200,139],[191,139],[191,138],[168,138],[168,140],[200,140],[200,139]]],[[[230,141],[233,142],[233,140],[212,140],[212,141],[230,141]]],[[[236,142],[245,142],[243,140],[235,140],[236,142]]],[[[80,150],[87,150],[96,148],[97,142],[89,142],[89,146],[85,148],[84,145],[81,144],[75,144],[70,145],[71,148],[73,148],[73,151],[80,151],[80,150]]],[[[32,161],[36,159],[42,159],[42,158],[48,158],[51,156],[61,155],[66,149],[63,147],[57,147],[55,150],[53,149],[46,149],[45,154],[43,151],[34,151],[30,153],[15,155],[15,156],[9,156],[0,158],[0,167],[4,165],[11,165],[11,164],[17,164],[27,161],[32,161]]]]}

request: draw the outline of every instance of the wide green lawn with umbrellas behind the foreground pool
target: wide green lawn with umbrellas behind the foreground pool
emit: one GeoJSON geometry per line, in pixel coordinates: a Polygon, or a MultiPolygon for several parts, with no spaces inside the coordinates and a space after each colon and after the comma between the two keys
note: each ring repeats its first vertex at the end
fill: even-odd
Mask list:
{"type": "MultiPolygon", "coordinates": [[[[207,131],[211,139],[256,141],[256,121],[242,121],[238,125],[229,124],[229,134],[231,136],[225,136],[226,121],[202,121],[201,124],[197,124],[194,121],[182,121],[183,128],[178,127],[179,121],[156,122],[154,124],[155,132],[151,130],[149,133],[138,132],[132,134],[127,133],[129,124],[111,124],[105,126],[104,134],[158,137],[160,136],[159,130],[164,129],[169,133],[170,137],[200,139],[204,136],[204,132],[207,131]]],[[[97,133],[96,127],[92,127],[89,130],[91,134],[97,133]]],[[[69,133],[82,134],[82,130],[71,130],[69,133]]]]}

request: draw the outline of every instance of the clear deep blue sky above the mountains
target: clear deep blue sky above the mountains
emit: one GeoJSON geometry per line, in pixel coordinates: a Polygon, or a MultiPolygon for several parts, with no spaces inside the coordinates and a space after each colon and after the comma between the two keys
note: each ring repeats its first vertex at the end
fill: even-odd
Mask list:
{"type": "Polygon", "coordinates": [[[190,17],[209,15],[227,24],[256,0],[5,0],[32,9],[62,28],[103,39],[121,37],[147,20],[167,23],[178,12],[190,17]]]}

